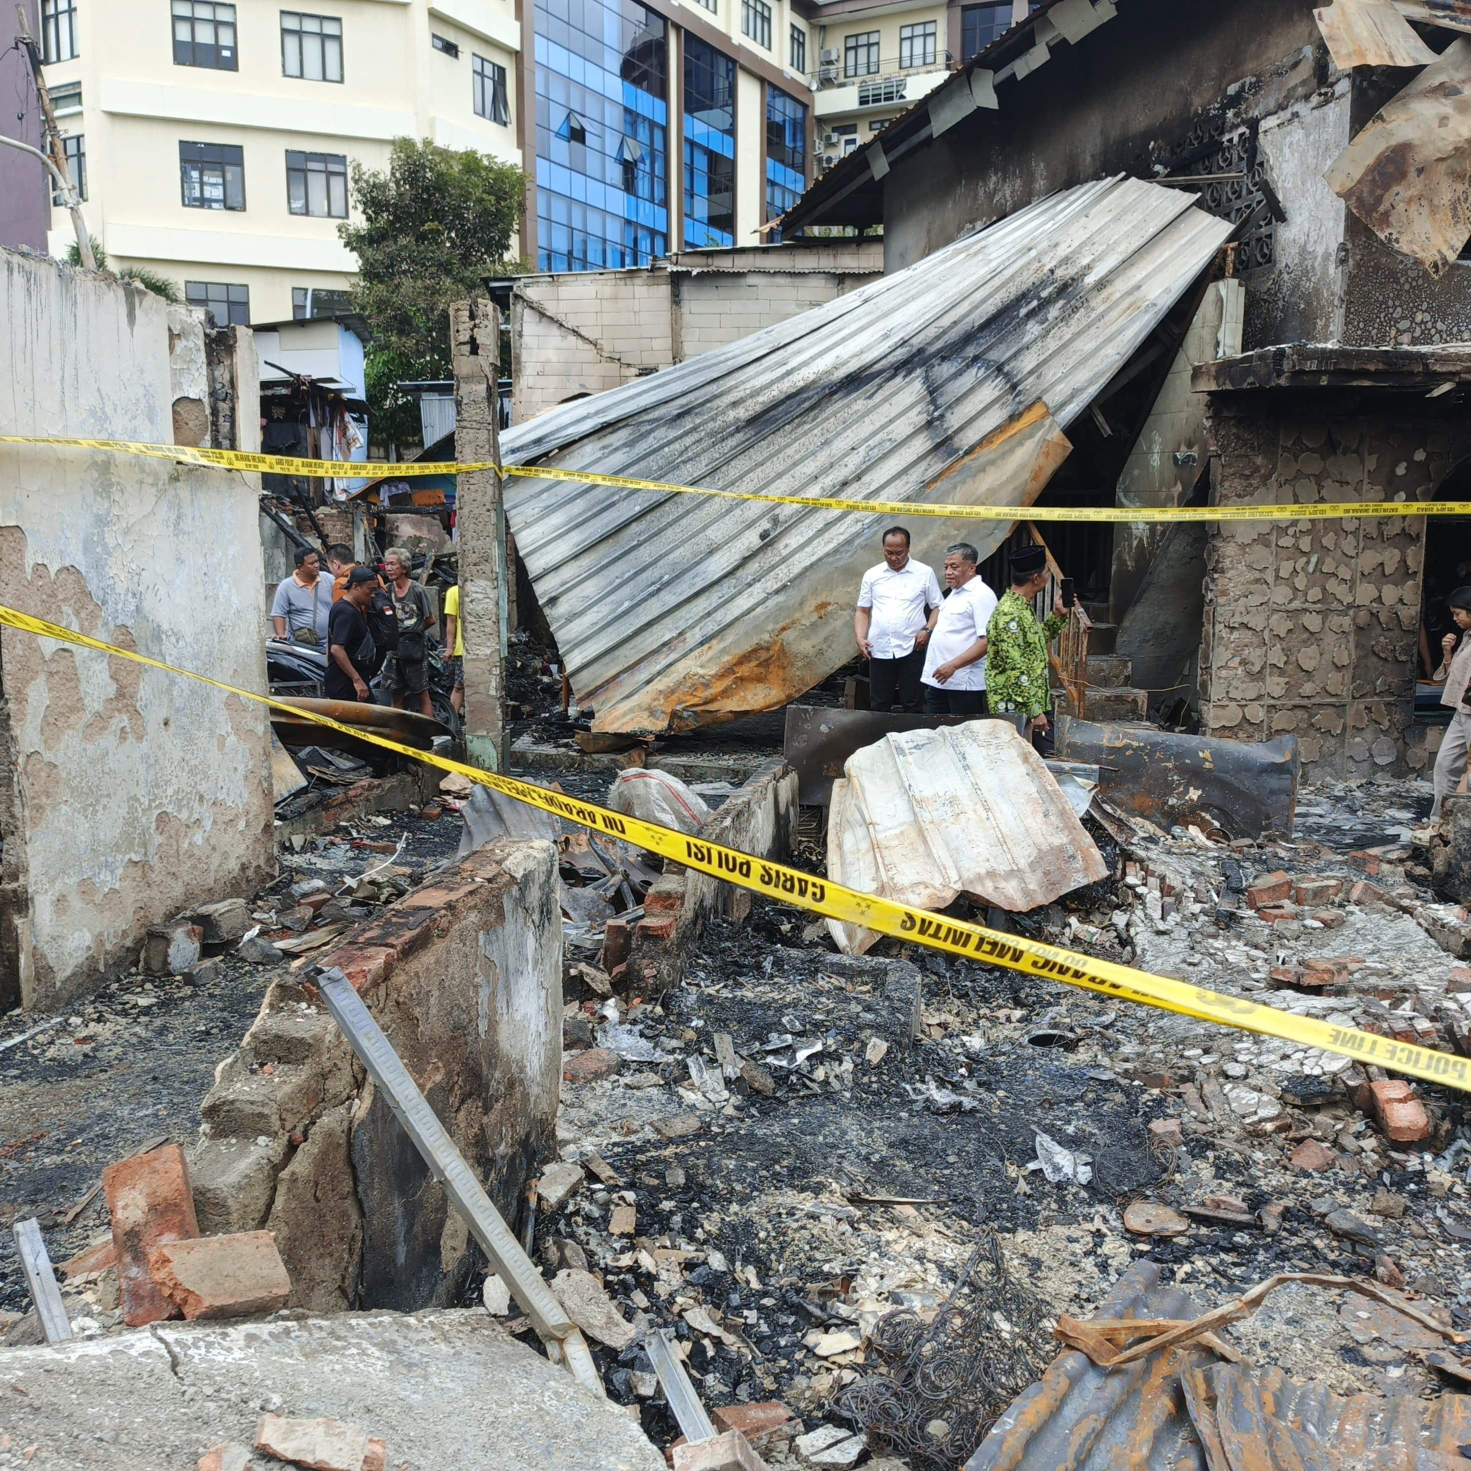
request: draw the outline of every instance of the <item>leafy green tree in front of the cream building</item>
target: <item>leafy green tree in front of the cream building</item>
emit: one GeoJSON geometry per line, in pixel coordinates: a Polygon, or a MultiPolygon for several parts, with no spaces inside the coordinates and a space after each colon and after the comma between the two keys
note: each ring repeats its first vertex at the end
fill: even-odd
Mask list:
{"type": "Polygon", "coordinates": [[[449,378],[449,307],[487,275],[524,266],[510,237],[525,206],[525,175],[474,149],[396,138],[388,168],[353,165],[362,222],[338,227],[357,256],[353,309],[372,332],[368,409],[375,440],[418,440],[418,415],[394,391],[405,380],[449,378]]]}

